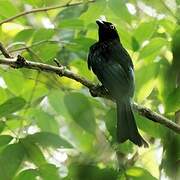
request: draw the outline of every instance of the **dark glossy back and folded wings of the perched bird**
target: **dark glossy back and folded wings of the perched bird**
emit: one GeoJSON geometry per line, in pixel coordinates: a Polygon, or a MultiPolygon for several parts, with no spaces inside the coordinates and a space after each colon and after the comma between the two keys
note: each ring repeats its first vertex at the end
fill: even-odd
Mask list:
{"type": "Polygon", "coordinates": [[[134,75],[130,56],[117,46],[96,49],[89,55],[89,64],[101,83],[114,97],[132,96],[134,75]]]}

